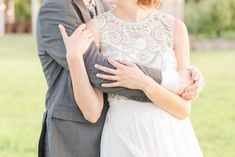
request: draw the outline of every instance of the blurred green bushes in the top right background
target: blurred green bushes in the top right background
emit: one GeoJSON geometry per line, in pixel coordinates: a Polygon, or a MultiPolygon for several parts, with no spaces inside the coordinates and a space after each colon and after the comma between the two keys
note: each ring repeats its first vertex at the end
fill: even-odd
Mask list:
{"type": "Polygon", "coordinates": [[[185,22],[197,37],[235,39],[235,0],[186,0],[185,22]]]}

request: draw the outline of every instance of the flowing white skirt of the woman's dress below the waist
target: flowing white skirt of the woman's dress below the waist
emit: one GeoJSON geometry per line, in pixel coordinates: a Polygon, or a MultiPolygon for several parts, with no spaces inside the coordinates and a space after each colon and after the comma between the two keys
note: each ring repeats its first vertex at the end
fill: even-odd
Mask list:
{"type": "Polygon", "coordinates": [[[202,157],[189,118],[179,120],[153,103],[110,100],[101,157],[202,157]]]}

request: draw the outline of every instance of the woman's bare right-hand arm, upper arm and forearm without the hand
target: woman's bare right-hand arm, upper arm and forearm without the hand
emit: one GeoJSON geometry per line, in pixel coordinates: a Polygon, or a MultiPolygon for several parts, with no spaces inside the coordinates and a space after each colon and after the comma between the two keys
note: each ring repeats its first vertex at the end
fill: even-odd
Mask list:
{"type": "MultiPolygon", "coordinates": [[[[174,50],[177,58],[177,70],[186,69],[189,66],[189,38],[188,31],[183,22],[176,19],[174,27],[174,50]]],[[[191,102],[162,88],[152,79],[145,77],[143,90],[146,95],[162,109],[174,116],[183,119],[190,114],[191,102]]]]}

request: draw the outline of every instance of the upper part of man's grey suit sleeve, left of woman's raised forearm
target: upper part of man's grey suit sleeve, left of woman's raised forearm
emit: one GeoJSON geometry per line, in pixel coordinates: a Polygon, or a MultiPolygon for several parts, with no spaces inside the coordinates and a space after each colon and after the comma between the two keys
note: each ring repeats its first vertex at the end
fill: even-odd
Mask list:
{"type": "Polygon", "coordinates": [[[64,25],[70,35],[79,25],[79,19],[73,16],[66,6],[57,2],[48,2],[41,6],[38,22],[45,51],[60,66],[69,70],[66,49],[58,25],[64,25]]]}

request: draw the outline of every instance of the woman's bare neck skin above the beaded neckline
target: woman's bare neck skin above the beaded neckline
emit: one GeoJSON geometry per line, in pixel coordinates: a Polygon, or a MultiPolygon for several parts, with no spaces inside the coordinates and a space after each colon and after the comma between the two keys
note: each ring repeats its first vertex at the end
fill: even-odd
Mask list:
{"type": "Polygon", "coordinates": [[[144,9],[140,7],[136,1],[126,1],[116,5],[113,14],[123,20],[129,22],[138,22],[145,19],[153,9],[144,9]]]}

